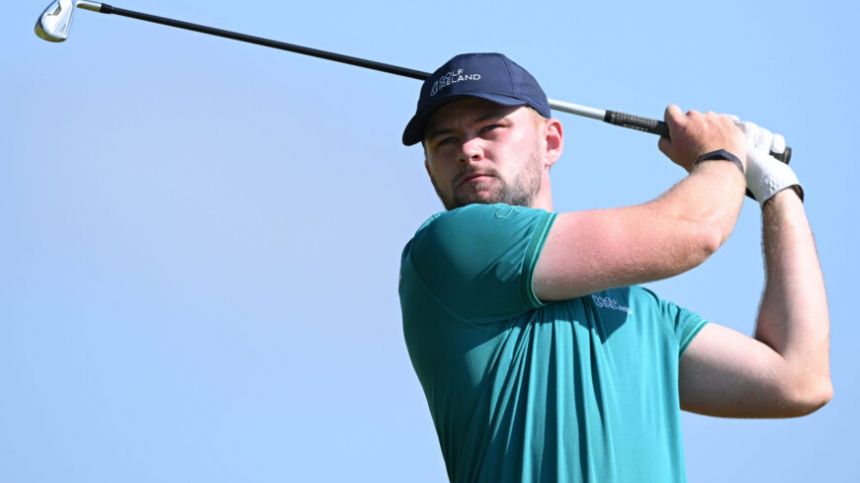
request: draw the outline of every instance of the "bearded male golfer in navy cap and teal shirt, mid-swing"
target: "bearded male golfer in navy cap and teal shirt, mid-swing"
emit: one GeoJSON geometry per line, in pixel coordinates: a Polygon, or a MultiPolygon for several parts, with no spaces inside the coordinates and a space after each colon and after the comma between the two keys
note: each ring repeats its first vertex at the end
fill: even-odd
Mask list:
{"type": "MultiPolygon", "coordinates": [[[[828,313],[802,190],[778,135],[666,110],[689,174],[655,200],[552,211],[561,123],[500,54],[451,59],[403,135],[445,208],[407,244],[404,335],[455,482],[685,481],[679,408],[808,414],[831,397],[828,313]],[[767,284],[755,338],[637,284],[701,264],[749,187],[767,284]]],[[[715,296],[719,296],[715,294],[715,296]]]]}

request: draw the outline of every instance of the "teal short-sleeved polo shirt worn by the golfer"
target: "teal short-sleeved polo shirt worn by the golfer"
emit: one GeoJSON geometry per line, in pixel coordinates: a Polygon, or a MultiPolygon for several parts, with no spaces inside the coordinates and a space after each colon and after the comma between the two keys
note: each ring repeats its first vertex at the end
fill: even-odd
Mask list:
{"type": "Polygon", "coordinates": [[[403,332],[448,476],[686,481],[678,364],[706,322],[638,286],[538,300],[555,216],[468,205],[403,251],[403,332]]]}

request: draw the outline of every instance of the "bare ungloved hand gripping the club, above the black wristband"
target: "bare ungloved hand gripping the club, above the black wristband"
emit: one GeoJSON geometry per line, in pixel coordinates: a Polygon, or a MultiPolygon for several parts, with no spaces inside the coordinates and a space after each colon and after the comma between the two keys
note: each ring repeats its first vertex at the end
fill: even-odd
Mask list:
{"type": "Polygon", "coordinates": [[[719,149],[734,154],[746,166],[744,133],[731,117],[698,111],[684,114],[676,105],[667,107],[664,117],[670,137],[660,139],[660,151],[688,173],[699,156],[719,149]]]}

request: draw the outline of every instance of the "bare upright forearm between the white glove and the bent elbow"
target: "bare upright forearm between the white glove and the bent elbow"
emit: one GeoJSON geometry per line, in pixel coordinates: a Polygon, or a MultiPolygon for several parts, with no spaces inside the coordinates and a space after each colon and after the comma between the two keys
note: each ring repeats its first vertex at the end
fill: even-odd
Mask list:
{"type": "Polygon", "coordinates": [[[763,231],[767,281],[756,338],[785,360],[789,400],[814,410],[832,393],[830,322],[812,231],[792,190],[765,204],[763,231]]]}

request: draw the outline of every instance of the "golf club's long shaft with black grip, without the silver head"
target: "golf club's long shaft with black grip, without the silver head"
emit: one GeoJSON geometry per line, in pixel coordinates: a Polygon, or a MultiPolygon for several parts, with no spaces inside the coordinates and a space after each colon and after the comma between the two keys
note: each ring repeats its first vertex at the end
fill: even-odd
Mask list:
{"type": "MultiPolygon", "coordinates": [[[[296,54],[309,55],[311,57],[317,57],[320,59],[331,60],[334,62],[340,62],[342,64],[354,65],[357,67],[364,67],[366,69],[377,70],[380,72],[386,72],[389,74],[395,74],[403,77],[409,77],[412,79],[425,80],[430,76],[429,72],[423,72],[420,70],[407,69],[405,67],[400,67],[392,64],[385,64],[383,62],[376,62],[367,59],[361,59],[359,57],[352,57],[349,55],[338,54],[334,52],[328,52],[325,50],[312,49],[310,47],[304,47],[301,45],[290,44],[287,42],[281,42],[279,40],[267,39],[264,37],[257,37],[254,35],[247,35],[238,32],[232,32],[230,30],[224,30],[214,27],[208,27],[206,25],[195,24],[191,22],[184,22],[182,20],[174,20],[166,17],[159,17],[157,15],[150,15],[148,13],[135,12],[133,10],[126,10],[124,8],[114,7],[112,5],[108,5],[106,3],[96,3],[81,0],[77,3],[79,8],[83,8],[85,10],[90,10],[94,12],[104,13],[104,14],[112,14],[112,15],[120,15],[123,17],[129,17],[137,20],[143,20],[145,22],[157,23],[160,25],[166,25],[168,27],[176,27],[184,30],[191,30],[193,32],[200,32],[203,34],[214,35],[216,37],[224,37],[228,39],[238,40],[240,42],[247,42],[250,44],[262,45],[264,47],[271,47],[273,49],[286,50],[288,52],[293,52],[296,54]]],[[[665,122],[659,121],[656,119],[650,119],[641,116],[635,116],[632,114],[626,114],[618,111],[606,111],[603,109],[597,109],[594,107],[583,106],[579,104],[573,104],[571,102],[566,101],[558,101],[555,99],[549,99],[549,105],[552,109],[561,112],[567,112],[569,114],[574,114],[577,116],[588,117],[591,119],[597,119],[600,121],[604,121],[610,124],[614,124],[616,126],[622,126],[629,129],[636,129],[638,131],[645,131],[653,134],[658,134],[663,137],[669,137],[669,128],[665,122]]],[[[790,149],[786,149],[786,156],[782,157],[782,161],[788,163],[790,156],[790,149]]]]}

